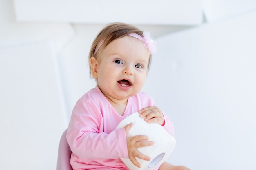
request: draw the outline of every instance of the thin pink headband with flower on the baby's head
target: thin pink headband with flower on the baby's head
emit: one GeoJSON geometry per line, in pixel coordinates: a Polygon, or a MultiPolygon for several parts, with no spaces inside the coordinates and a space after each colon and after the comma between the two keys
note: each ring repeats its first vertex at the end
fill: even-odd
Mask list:
{"type": "MultiPolygon", "coordinates": [[[[146,48],[148,48],[150,54],[155,53],[157,51],[156,41],[154,40],[154,38],[152,38],[150,36],[149,31],[144,31],[142,35],[143,35],[143,37],[141,37],[140,35],[138,35],[136,33],[128,34],[128,36],[132,36],[132,37],[138,38],[139,40],[143,41],[144,46],[146,48]]],[[[102,46],[102,44],[103,44],[103,40],[101,40],[99,42],[99,44],[96,46],[94,55],[97,53],[97,51],[102,46]]]]}

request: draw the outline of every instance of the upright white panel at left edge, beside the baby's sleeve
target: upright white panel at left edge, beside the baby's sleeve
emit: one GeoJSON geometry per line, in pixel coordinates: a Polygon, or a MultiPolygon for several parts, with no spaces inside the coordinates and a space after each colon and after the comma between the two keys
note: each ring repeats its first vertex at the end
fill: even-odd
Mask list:
{"type": "Polygon", "coordinates": [[[0,78],[0,169],[53,169],[66,126],[52,46],[0,48],[0,78]]]}

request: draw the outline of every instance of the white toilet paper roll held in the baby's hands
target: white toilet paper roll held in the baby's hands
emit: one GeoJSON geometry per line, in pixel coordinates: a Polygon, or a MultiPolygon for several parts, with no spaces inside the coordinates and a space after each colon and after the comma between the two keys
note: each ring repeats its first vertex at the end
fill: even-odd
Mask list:
{"type": "Polygon", "coordinates": [[[139,152],[150,157],[150,161],[139,159],[141,168],[135,166],[130,159],[120,158],[130,170],[153,170],[160,166],[171,155],[176,140],[161,125],[157,123],[147,123],[144,118],[139,117],[139,113],[133,113],[121,121],[116,129],[122,128],[127,124],[133,123],[129,135],[146,135],[149,141],[154,141],[153,146],[138,148],[139,152]]]}

